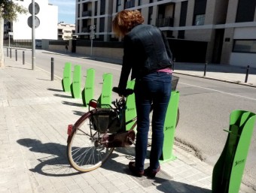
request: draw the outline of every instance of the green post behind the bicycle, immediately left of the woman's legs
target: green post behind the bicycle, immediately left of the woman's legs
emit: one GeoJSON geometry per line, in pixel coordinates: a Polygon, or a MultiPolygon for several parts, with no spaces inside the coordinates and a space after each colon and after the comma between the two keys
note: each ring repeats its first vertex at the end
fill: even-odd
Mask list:
{"type": "MultiPolygon", "coordinates": [[[[128,81],[127,89],[133,89],[134,85],[135,85],[135,80],[128,81]]],[[[136,116],[137,116],[137,113],[136,113],[136,104],[135,104],[135,94],[133,93],[132,95],[129,95],[126,98],[125,119],[126,119],[126,122],[129,122],[126,125],[126,131],[133,126],[134,122],[136,122],[136,120],[133,120],[133,118],[136,116]]],[[[136,131],[136,129],[134,129],[134,131],[136,131]]]]}

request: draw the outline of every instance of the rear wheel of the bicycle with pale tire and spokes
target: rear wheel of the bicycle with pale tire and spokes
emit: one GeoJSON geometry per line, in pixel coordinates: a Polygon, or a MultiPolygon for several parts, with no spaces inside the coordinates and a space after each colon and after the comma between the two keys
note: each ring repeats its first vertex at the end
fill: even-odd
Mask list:
{"type": "Polygon", "coordinates": [[[97,131],[91,129],[92,111],[85,113],[75,123],[69,136],[67,155],[69,164],[80,172],[88,172],[101,167],[114,151],[99,143],[97,131]]]}

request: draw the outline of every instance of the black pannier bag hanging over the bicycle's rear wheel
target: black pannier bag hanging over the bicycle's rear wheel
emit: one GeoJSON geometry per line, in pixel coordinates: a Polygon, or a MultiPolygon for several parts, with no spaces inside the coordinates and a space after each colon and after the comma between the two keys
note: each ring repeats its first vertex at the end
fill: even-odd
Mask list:
{"type": "Polygon", "coordinates": [[[99,133],[117,132],[121,128],[117,112],[112,109],[100,109],[93,113],[93,128],[99,133]]]}

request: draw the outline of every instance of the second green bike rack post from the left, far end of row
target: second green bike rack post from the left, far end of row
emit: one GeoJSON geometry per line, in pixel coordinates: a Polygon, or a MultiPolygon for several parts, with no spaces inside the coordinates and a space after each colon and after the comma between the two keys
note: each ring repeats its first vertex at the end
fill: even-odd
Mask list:
{"type": "Polygon", "coordinates": [[[71,92],[72,98],[81,98],[81,65],[74,66],[71,92]]]}

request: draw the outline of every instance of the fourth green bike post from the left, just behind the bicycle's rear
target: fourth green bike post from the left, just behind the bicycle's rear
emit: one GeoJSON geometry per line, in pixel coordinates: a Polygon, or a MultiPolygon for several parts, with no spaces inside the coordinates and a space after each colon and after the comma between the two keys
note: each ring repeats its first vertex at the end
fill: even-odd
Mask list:
{"type": "Polygon", "coordinates": [[[103,74],[102,94],[99,96],[98,102],[100,104],[110,104],[112,101],[112,83],[113,74],[103,74]]]}

